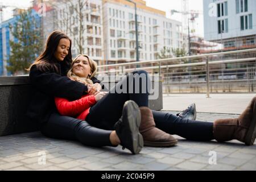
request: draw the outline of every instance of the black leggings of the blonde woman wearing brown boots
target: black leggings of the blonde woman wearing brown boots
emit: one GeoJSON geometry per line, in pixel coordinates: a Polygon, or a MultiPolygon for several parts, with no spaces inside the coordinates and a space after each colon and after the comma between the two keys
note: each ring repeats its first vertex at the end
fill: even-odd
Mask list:
{"type": "MultiPolygon", "coordinates": [[[[122,81],[118,82],[110,90],[104,98],[96,103],[96,105],[90,108],[90,113],[86,117],[86,121],[92,126],[105,129],[114,130],[114,123],[122,115],[122,107],[128,100],[135,101],[139,107],[148,106],[148,90],[143,86],[150,86],[150,79],[146,71],[135,71],[132,73],[134,76],[126,76],[122,81]],[[137,78],[146,76],[146,80],[141,79],[139,82],[137,78]],[[135,85],[137,83],[138,85],[135,85]],[[146,84],[145,84],[146,83],[146,84]],[[144,84],[142,86],[142,84],[144,84]],[[122,88],[121,85],[126,85],[127,89],[125,93],[116,93],[118,88],[122,88]],[[133,86],[133,92],[127,92],[129,88],[133,86]],[[139,93],[135,92],[135,88],[139,89],[139,93]],[[142,93],[146,90],[146,93],[142,93]]],[[[169,134],[176,134],[180,137],[189,140],[202,140],[208,141],[213,139],[213,123],[192,121],[189,119],[182,119],[176,115],[170,113],[162,113],[160,111],[152,111],[156,127],[169,134]]]]}

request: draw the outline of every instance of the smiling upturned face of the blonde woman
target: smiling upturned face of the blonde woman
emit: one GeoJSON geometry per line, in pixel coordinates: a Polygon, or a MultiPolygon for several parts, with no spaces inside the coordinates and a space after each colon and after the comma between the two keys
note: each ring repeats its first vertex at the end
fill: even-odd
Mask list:
{"type": "Polygon", "coordinates": [[[79,56],[75,60],[72,72],[79,77],[88,78],[88,76],[92,75],[92,71],[90,68],[89,60],[85,56],[79,56]]]}

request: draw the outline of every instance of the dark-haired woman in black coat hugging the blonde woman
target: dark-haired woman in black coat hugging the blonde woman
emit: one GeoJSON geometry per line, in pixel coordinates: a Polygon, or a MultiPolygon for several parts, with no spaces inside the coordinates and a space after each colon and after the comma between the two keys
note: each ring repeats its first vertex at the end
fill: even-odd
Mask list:
{"type": "Polygon", "coordinates": [[[79,140],[87,146],[95,147],[121,144],[133,154],[138,154],[143,147],[143,139],[138,130],[141,115],[135,102],[127,101],[123,105],[122,117],[114,131],[97,129],[86,121],[58,113],[55,97],[77,100],[84,94],[95,94],[96,83],[100,82],[92,77],[92,82],[96,85],[88,87],[67,77],[72,63],[71,46],[71,39],[63,32],[52,32],[44,52],[28,68],[34,95],[27,116],[32,121],[40,122],[40,130],[47,137],[79,140]],[[129,117],[131,114],[134,115],[133,118],[129,117]]]}

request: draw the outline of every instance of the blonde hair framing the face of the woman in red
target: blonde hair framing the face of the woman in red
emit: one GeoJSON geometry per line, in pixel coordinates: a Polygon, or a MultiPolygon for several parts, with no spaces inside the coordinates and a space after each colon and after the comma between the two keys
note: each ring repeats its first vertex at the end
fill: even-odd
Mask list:
{"type": "Polygon", "coordinates": [[[78,55],[78,56],[76,56],[76,58],[72,61],[72,64],[71,64],[71,65],[72,65],[72,67],[71,67],[71,69],[69,69],[68,74],[67,74],[67,76],[68,76],[69,78],[71,78],[71,79],[74,80],[74,81],[79,81],[79,82],[81,82],[82,84],[85,84],[85,85],[88,85],[88,84],[89,84],[89,85],[92,85],[92,84],[93,84],[93,82],[92,82],[92,80],[90,80],[90,78],[96,76],[96,73],[97,73],[97,63],[96,63],[94,60],[90,59],[90,57],[87,56],[87,55],[78,55]],[[75,73],[72,72],[73,65],[75,64],[75,61],[77,60],[77,58],[80,57],[80,56],[86,57],[86,58],[88,59],[88,62],[89,62],[90,71],[92,72],[92,75],[88,75],[87,78],[85,78],[85,77],[79,77],[79,76],[77,76],[75,73]]]}

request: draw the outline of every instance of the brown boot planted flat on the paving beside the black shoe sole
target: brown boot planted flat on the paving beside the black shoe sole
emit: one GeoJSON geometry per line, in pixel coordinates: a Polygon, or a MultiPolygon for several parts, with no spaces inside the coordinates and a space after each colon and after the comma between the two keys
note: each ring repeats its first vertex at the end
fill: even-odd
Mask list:
{"type": "Polygon", "coordinates": [[[139,107],[141,110],[141,126],[144,146],[148,147],[171,147],[177,144],[177,139],[172,135],[155,127],[152,111],[148,107],[139,107]]]}

